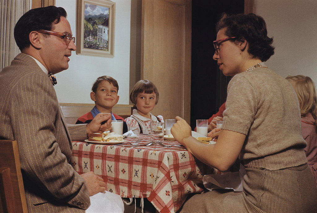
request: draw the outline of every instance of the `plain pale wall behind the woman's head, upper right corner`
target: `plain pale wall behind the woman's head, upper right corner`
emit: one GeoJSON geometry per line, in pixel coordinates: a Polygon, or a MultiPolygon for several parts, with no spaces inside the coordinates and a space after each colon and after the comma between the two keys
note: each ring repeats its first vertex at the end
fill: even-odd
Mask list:
{"type": "Polygon", "coordinates": [[[268,67],[282,77],[309,76],[317,86],[317,1],[256,0],[256,14],[274,37],[268,67]]]}

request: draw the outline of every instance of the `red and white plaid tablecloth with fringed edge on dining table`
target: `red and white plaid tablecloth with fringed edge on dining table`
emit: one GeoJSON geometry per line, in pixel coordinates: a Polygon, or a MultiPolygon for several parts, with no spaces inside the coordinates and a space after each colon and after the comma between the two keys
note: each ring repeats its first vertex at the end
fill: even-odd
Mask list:
{"type": "MultiPolygon", "coordinates": [[[[139,137],[141,145],[150,142],[149,136],[139,137]]],[[[100,175],[106,190],[121,197],[146,197],[162,213],[176,212],[188,194],[202,192],[204,174],[217,174],[216,169],[176,146],[130,148],[74,141],[71,163],[79,174],[93,171],[100,175]]]]}

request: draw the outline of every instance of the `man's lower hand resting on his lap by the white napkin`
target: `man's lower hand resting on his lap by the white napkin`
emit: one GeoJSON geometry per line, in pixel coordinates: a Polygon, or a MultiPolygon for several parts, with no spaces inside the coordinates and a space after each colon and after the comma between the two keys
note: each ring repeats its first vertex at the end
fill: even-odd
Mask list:
{"type": "Polygon", "coordinates": [[[98,192],[103,192],[106,190],[106,183],[103,182],[103,179],[97,176],[94,172],[89,171],[87,173],[81,174],[80,176],[86,181],[89,196],[93,196],[98,192]]]}

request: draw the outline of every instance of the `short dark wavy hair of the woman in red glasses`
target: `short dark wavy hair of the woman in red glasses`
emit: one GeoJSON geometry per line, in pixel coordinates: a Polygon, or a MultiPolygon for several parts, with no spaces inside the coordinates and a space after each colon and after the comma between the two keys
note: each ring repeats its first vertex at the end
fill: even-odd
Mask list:
{"type": "Polygon", "coordinates": [[[261,61],[267,61],[274,54],[273,38],[268,37],[266,24],[261,16],[250,13],[227,15],[222,14],[216,25],[216,31],[227,28],[226,35],[236,37],[236,41],[246,40],[249,43],[248,53],[261,61]]]}

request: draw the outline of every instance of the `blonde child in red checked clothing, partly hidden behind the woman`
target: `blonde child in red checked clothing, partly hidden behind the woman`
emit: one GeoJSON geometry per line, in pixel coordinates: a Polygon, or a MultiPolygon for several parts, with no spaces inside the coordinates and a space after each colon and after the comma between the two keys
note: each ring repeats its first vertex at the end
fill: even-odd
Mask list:
{"type": "Polygon", "coordinates": [[[316,87],[311,78],[303,75],[287,76],[297,94],[301,110],[301,132],[307,142],[304,148],[308,165],[317,184],[317,97],[316,87]]]}

